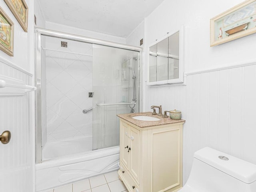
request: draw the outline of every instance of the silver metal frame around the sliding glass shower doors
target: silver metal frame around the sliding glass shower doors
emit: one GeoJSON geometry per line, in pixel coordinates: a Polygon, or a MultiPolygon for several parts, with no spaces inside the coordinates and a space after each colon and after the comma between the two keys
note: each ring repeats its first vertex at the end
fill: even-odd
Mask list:
{"type": "Polygon", "coordinates": [[[54,38],[61,38],[67,40],[74,40],[78,42],[91,43],[91,44],[99,44],[104,46],[110,46],[114,48],[122,48],[126,50],[132,50],[139,52],[139,112],[142,109],[142,90],[143,90],[143,48],[130,46],[126,44],[110,42],[105,40],[99,40],[95,38],[89,38],[86,36],[80,36],[75,34],[69,34],[64,32],[59,32],[55,30],[43,29],[43,28],[35,28],[35,85],[37,88],[36,96],[35,96],[35,129],[36,129],[36,163],[42,162],[42,114],[41,114],[41,106],[42,106],[42,98],[41,98],[41,77],[42,77],[42,36],[49,36],[54,38]]]}

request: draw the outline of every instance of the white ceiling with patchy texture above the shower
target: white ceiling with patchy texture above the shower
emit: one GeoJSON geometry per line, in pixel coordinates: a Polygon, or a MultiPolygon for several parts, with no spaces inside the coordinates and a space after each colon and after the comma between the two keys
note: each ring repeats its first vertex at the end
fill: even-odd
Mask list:
{"type": "Polygon", "coordinates": [[[164,0],[39,0],[48,22],[126,38],[164,0]]]}

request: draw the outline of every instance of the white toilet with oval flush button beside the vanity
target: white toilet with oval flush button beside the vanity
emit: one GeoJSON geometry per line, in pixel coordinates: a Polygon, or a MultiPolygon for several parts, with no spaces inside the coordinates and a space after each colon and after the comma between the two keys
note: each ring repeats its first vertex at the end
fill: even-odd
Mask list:
{"type": "Polygon", "coordinates": [[[256,165],[202,148],[194,153],[188,181],[178,192],[256,192],[256,165]]]}

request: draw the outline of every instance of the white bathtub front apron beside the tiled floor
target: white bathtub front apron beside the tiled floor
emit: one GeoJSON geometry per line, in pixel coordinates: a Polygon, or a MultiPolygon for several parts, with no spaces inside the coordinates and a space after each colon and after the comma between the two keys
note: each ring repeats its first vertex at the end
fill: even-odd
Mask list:
{"type": "MultiPolygon", "coordinates": [[[[55,152],[44,154],[45,159],[54,156],[55,153],[65,155],[65,150],[58,152],[56,146],[54,146],[55,152]]],[[[60,144],[59,146],[61,146],[60,150],[65,149],[64,145],[60,144]]],[[[36,164],[36,191],[56,188],[77,180],[118,170],[118,162],[119,146],[36,164]]]]}

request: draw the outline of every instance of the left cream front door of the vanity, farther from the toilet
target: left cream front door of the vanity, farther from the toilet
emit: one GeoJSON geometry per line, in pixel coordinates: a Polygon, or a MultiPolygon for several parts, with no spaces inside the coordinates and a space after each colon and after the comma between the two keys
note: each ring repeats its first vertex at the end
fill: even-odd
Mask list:
{"type": "Polygon", "coordinates": [[[130,148],[129,143],[129,132],[130,128],[128,124],[121,122],[121,143],[120,143],[120,158],[123,162],[126,169],[129,170],[129,152],[128,149],[130,148]]]}

